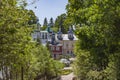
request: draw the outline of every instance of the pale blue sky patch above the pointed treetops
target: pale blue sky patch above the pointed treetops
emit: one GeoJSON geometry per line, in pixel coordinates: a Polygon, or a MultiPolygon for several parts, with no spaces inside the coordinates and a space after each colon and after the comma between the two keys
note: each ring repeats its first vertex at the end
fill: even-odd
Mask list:
{"type": "Polygon", "coordinates": [[[57,16],[65,13],[65,7],[68,3],[68,0],[35,0],[34,4],[31,4],[31,1],[33,2],[34,0],[27,0],[28,6],[26,8],[35,12],[41,25],[43,25],[45,17],[49,22],[51,17],[55,20],[57,16]]]}

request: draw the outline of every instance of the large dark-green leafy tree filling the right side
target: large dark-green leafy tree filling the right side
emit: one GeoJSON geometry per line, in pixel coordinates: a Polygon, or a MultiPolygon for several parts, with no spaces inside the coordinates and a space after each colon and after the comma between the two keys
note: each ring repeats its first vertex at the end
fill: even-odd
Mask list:
{"type": "MultiPolygon", "coordinates": [[[[79,49],[84,50],[84,52],[87,51],[90,54],[90,58],[86,58],[86,60],[90,59],[88,61],[91,64],[89,72],[91,73],[91,70],[96,70],[100,73],[100,76],[102,76],[101,80],[106,79],[105,74],[110,72],[104,72],[104,70],[108,68],[108,64],[119,61],[119,58],[115,56],[120,54],[120,28],[118,26],[120,21],[119,6],[119,0],[69,0],[66,7],[68,18],[72,19],[76,26],[80,27],[79,30],[76,31],[80,39],[79,43],[77,43],[79,49]],[[110,62],[111,55],[117,61],[110,62]]],[[[79,52],[78,49],[76,54],[77,59],[81,60],[82,57],[79,57],[81,56],[81,52],[79,52]]],[[[76,65],[83,67],[78,63],[76,63],[76,65]]],[[[87,65],[86,62],[85,65],[87,65]]],[[[116,76],[112,79],[120,79],[118,76],[120,69],[119,64],[112,66],[116,68],[116,70],[113,70],[116,76]]],[[[88,65],[87,67],[90,66],[88,65]]],[[[77,72],[81,71],[78,70],[77,72]]],[[[88,73],[86,73],[84,77],[89,77],[88,79],[99,79],[99,77],[95,78],[93,75],[87,75],[88,73]]],[[[78,76],[81,74],[82,73],[79,73],[78,76]]],[[[108,75],[110,76],[111,74],[108,75]]]]}

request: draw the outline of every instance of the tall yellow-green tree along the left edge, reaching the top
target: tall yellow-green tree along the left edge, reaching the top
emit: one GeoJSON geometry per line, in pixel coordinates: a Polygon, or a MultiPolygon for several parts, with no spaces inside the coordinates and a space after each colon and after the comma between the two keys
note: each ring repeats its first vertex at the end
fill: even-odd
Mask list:
{"type": "Polygon", "coordinates": [[[31,27],[28,25],[30,15],[27,10],[16,6],[16,0],[0,1],[0,4],[0,69],[3,80],[22,80],[27,72],[27,58],[31,49],[31,27]]]}

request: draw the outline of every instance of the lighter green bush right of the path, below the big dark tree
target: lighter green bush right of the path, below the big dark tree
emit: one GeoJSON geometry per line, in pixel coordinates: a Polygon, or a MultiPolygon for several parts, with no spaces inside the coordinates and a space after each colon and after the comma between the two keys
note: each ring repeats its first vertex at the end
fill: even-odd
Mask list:
{"type": "Polygon", "coordinates": [[[75,75],[78,76],[79,79],[87,79],[86,75],[89,69],[91,69],[91,57],[88,51],[83,50],[77,50],[79,49],[76,47],[75,53],[76,53],[76,61],[74,62],[73,69],[75,75]],[[77,51],[77,52],[76,52],[77,51]]]}

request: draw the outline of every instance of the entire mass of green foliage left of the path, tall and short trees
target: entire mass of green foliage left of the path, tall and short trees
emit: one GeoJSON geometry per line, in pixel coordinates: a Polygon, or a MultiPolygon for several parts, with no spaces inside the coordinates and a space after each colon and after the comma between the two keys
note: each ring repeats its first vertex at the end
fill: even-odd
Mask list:
{"type": "Polygon", "coordinates": [[[39,75],[47,78],[59,75],[62,65],[51,59],[48,50],[40,43],[31,42],[30,34],[37,23],[35,14],[18,4],[16,0],[0,1],[0,70],[3,80],[33,80],[39,75]]]}

